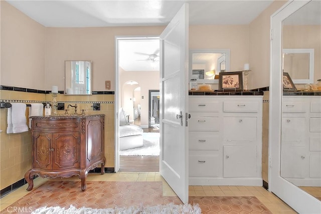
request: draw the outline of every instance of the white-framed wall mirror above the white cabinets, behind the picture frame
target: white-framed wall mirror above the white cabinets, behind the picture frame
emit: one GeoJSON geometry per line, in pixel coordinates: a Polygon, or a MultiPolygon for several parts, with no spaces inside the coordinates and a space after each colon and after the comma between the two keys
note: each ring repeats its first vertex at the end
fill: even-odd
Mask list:
{"type": "Polygon", "coordinates": [[[189,56],[189,79],[197,83],[218,84],[218,74],[230,70],[229,49],[192,49],[189,56]]]}

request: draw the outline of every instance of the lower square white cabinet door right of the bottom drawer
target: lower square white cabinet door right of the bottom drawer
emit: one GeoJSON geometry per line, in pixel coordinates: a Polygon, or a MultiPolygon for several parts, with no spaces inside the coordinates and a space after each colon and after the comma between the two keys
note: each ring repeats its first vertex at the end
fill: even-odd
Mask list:
{"type": "Polygon", "coordinates": [[[224,146],[223,176],[257,176],[256,145],[224,146]]]}

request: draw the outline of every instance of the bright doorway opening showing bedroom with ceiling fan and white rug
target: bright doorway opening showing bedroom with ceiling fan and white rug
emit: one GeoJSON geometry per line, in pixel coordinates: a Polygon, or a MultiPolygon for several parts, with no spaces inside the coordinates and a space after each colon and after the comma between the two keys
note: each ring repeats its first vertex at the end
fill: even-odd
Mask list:
{"type": "Polygon", "coordinates": [[[117,52],[118,171],[158,172],[159,38],[118,38],[117,52]]]}

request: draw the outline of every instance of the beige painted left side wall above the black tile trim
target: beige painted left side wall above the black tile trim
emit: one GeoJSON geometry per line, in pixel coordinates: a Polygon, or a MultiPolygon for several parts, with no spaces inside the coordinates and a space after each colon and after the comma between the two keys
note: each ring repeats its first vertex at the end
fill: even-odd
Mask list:
{"type": "Polygon", "coordinates": [[[0,84],[44,90],[46,28],[7,2],[0,4],[0,84]]]}

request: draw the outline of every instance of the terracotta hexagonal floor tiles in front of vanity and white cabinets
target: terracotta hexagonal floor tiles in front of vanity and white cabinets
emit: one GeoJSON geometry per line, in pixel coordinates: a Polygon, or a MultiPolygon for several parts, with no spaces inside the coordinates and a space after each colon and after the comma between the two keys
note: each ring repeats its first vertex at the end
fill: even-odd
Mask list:
{"type": "MultiPolygon", "coordinates": [[[[71,206],[75,209],[82,207],[115,209],[164,204],[182,205],[183,203],[177,196],[163,195],[163,184],[160,181],[87,181],[87,189],[81,191],[80,181],[49,180],[2,210],[1,213],[30,213],[45,206],[59,206],[66,209],[71,206]]],[[[189,204],[199,204],[202,213],[271,213],[254,196],[191,196],[189,204]]],[[[146,213],[157,213],[157,211],[146,213]]]]}

